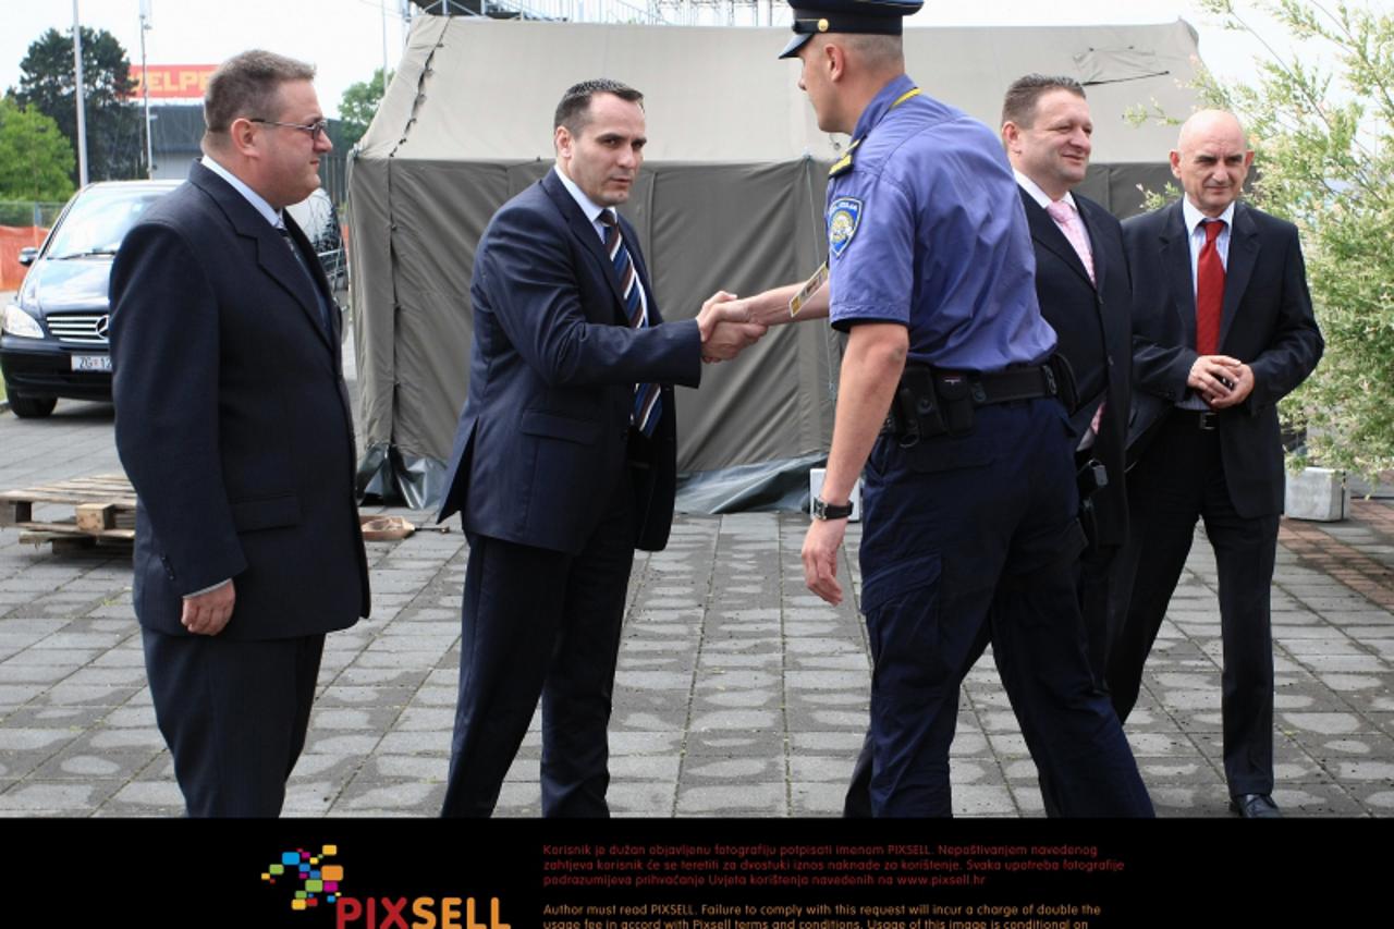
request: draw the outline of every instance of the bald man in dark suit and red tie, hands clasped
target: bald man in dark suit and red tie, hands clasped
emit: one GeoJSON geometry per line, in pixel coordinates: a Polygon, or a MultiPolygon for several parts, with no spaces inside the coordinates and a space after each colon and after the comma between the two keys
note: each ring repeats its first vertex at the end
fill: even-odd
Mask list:
{"type": "Polygon", "coordinates": [[[1262,817],[1278,815],[1269,629],[1284,494],[1277,402],[1312,372],[1323,343],[1296,227],[1236,202],[1252,162],[1232,114],[1196,113],[1171,152],[1185,198],[1124,223],[1133,382],[1160,423],[1129,474],[1132,596],[1108,685],[1126,720],[1204,519],[1220,576],[1225,780],[1231,808],[1262,817]]]}

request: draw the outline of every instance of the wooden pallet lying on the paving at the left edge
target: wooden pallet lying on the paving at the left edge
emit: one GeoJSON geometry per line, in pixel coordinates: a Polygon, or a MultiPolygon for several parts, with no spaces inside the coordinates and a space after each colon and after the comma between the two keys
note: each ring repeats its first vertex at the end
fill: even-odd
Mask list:
{"type": "Polygon", "coordinates": [[[95,474],[0,491],[0,526],[29,530],[22,541],[42,543],[59,536],[128,545],[135,541],[135,491],[124,474],[95,474]],[[70,505],[72,519],[36,520],[35,504],[70,505]]]}

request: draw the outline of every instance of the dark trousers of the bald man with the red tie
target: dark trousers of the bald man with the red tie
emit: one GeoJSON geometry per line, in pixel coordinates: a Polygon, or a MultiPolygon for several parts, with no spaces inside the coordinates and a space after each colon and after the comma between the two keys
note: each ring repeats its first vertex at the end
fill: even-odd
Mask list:
{"type": "Polygon", "coordinates": [[[1273,639],[1269,604],[1278,515],[1245,518],[1225,484],[1220,432],[1174,410],[1128,476],[1132,529],[1122,555],[1128,612],[1108,661],[1119,720],[1138,703],[1143,665],[1203,519],[1220,579],[1221,700],[1230,792],[1273,792],[1273,639]]]}

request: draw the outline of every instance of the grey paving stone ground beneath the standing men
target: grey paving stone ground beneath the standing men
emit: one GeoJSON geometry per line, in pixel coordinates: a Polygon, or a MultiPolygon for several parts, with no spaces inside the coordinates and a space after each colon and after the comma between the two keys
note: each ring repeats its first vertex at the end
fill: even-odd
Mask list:
{"type": "MultiPolygon", "coordinates": [[[[117,471],[112,407],[0,414],[0,490],[117,471]]],[[[59,509],[40,509],[54,516],[59,509]]],[[[424,513],[389,509],[418,522],[424,513]]],[[[803,587],[797,513],[680,516],[634,564],[615,682],[609,802],[626,816],[832,816],[867,723],[855,597],[803,587]]],[[[856,593],[856,544],[843,576],[856,593]]],[[[369,543],[374,615],[330,635],[297,816],[429,816],[445,792],[467,548],[457,527],[369,543]]],[[[1289,816],[1394,815],[1394,501],[1344,523],[1284,522],[1273,590],[1278,787],[1289,816]]],[[[1203,534],[1128,731],[1163,816],[1224,816],[1220,624],[1203,534]]],[[[500,816],[537,816],[539,734],[500,816]]],[[[1039,816],[1036,771],[984,657],[953,742],[963,816],[1039,816]]],[[[0,815],[174,816],[130,557],[56,555],[0,530],[0,815]]]]}

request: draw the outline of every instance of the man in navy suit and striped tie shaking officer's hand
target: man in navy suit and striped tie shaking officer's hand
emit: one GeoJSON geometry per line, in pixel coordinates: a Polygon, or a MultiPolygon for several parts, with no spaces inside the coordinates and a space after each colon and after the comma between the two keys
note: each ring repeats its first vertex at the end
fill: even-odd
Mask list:
{"type": "Polygon", "coordinates": [[[470,388],[441,518],[470,538],[445,816],[488,816],[542,700],[542,812],[605,816],[606,725],[634,548],[668,541],[673,382],[763,326],[718,294],[662,322],[615,206],[643,162],[643,96],[570,88],[556,166],[480,240],[470,388]],[[723,322],[725,321],[725,322],[723,322]]]}

